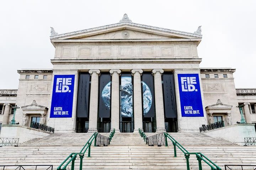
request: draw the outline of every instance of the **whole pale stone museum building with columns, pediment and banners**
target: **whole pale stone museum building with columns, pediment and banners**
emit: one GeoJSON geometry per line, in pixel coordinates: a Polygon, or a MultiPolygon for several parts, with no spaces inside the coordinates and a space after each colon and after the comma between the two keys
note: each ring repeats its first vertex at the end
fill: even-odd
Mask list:
{"type": "Polygon", "coordinates": [[[0,90],[0,125],[37,122],[55,132],[198,132],[256,123],[256,89],[235,89],[232,68],[200,68],[194,33],[119,23],[58,34],[53,69],[24,69],[0,90]],[[244,105],[240,113],[238,105],[244,105]]]}

